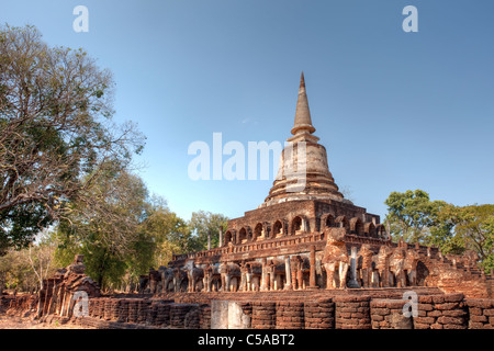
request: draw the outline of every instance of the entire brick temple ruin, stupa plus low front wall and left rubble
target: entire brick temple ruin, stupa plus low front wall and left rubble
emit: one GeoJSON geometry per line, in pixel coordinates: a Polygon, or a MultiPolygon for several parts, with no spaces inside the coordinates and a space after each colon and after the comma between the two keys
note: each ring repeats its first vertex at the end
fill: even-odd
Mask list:
{"type": "MultiPolygon", "coordinates": [[[[303,75],[291,132],[265,202],[221,228],[220,247],[150,269],[137,294],[100,296],[76,257],[45,282],[38,315],[124,329],[494,329],[493,279],[475,253],[392,242],[379,216],[338,191],[303,75]],[[75,316],[81,292],[83,318],[75,316]],[[416,315],[405,314],[408,298],[416,315]]],[[[1,297],[0,310],[34,303],[1,297]]]]}

